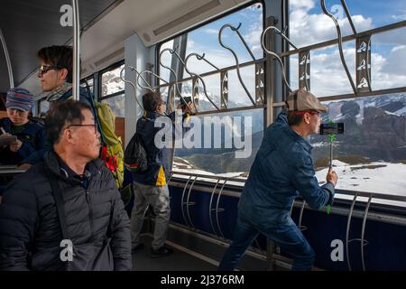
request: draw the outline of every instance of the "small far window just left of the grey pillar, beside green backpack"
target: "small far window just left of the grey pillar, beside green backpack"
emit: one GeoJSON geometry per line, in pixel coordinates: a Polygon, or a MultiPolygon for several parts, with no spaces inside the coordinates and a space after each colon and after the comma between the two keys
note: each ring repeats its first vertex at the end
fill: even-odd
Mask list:
{"type": "Polygon", "coordinates": [[[115,117],[125,117],[125,82],[120,79],[124,66],[124,63],[120,63],[101,73],[100,101],[111,107],[115,117]]]}

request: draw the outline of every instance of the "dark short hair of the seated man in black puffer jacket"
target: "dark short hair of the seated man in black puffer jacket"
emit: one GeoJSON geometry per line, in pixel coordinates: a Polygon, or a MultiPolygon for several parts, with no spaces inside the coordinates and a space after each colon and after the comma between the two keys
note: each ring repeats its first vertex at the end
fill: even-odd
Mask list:
{"type": "Polygon", "coordinates": [[[87,104],[75,100],[60,101],[53,105],[45,118],[48,142],[58,144],[64,126],[80,125],[85,120],[82,114],[84,109],[91,111],[87,104]]]}

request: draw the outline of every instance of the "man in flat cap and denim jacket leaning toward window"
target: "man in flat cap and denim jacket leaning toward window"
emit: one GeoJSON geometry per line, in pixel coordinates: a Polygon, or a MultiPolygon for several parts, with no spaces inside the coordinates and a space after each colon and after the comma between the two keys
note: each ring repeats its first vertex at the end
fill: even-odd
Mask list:
{"type": "Polygon", "coordinates": [[[292,270],[311,270],[315,253],[290,216],[292,202],[300,194],[310,208],[321,209],[334,199],[337,174],[329,171],[327,183],[318,186],[312,146],[305,137],[317,134],[319,112],[327,112],[318,98],[299,89],[264,135],[238,204],[233,242],[219,270],[233,270],[247,247],[261,232],[293,259],[292,270]]]}

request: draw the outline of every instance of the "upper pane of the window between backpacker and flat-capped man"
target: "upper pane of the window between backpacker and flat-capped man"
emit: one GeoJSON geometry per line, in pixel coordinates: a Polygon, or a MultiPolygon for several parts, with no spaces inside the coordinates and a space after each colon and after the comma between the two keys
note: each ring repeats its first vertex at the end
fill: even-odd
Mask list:
{"type": "MultiPolygon", "coordinates": [[[[220,28],[226,23],[229,23],[234,27],[238,27],[239,23],[241,23],[239,33],[245,38],[254,58],[263,58],[263,51],[260,44],[260,35],[263,31],[263,4],[261,3],[245,7],[233,14],[226,15],[216,21],[205,24],[189,33],[182,34],[174,40],[164,42],[160,46],[160,52],[166,48],[172,49],[174,45],[179,48],[181,42],[186,40],[184,51],[185,56],[189,55],[191,52],[198,53],[199,55],[203,55],[204,53],[205,59],[215,64],[219,69],[235,65],[235,59],[231,52],[226,51],[226,49],[224,49],[218,42],[220,28]],[[204,37],[202,37],[202,35],[204,35],[204,37]]],[[[235,50],[235,54],[240,63],[253,60],[250,54],[245,50],[244,45],[242,45],[237,35],[230,29],[224,29],[222,40],[226,46],[230,46],[235,50]]],[[[171,66],[172,58],[173,55],[166,51],[162,53],[161,61],[165,66],[171,66]]],[[[196,57],[191,57],[189,59],[188,68],[190,71],[198,74],[213,70],[211,65],[205,61],[198,61],[196,57]]],[[[169,70],[161,67],[160,72],[163,79],[167,81],[170,80],[169,70]]],[[[180,73],[185,78],[189,77],[186,70],[182,70],[180,73]]]]}

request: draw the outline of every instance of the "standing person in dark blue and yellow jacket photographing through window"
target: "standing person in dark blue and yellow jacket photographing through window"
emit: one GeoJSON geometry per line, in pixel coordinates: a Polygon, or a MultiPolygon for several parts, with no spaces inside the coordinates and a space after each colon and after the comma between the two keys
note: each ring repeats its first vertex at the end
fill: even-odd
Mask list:
{"type": "MultiPolygon", "coordinates": [[[[183,106],[182,120],[189,121],[191,103],[183,106]]],[[[134,207],[131,214],[132,253],[141,250],[144,245],[141,242],[140,233],[143,228],[143,219],[148,205],[152,206],[156,215],[155,228],[153,231],[151,257],[157,258],[168,256],[173,249],[165,245],[166,236],[171,218],[170,197],[168,180],[170,172],[170,154],[168,147],[158,148],[154,139],[161,127],[155,127],[155,120],[159,117],[169,117],[174,122],[175,112],[165,115],[165,102],[157,92],[148,92],[143,95],[143,117],[137,121],[136,133],[144,151],[146,152],[146,168],[134,170],[134,207]]],[[[180,107],[178,107],[180,108],[180,107]]]]}

